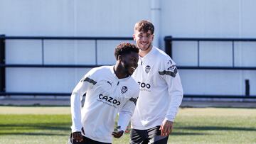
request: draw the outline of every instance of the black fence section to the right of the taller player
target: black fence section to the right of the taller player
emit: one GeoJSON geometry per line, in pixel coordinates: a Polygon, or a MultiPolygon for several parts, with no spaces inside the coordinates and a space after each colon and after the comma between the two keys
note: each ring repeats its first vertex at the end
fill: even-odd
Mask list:
{"type": "MultiPolygon", "coordinates": [[[[165,41],[165,48],[166,48],[166,53],[172,55],[172,48],[173,45],[172,43],[174,41],[194,41],[197,43],[197,52],[198,52],[198,57],[197,57],[197,66],[183,66],[183,65],[178,65],[178,69],[180,70],[256,70],[256,67],[237,67],[235,66],[235,42],[256,42],[256,38],[173,38],[172,36],[166,36],[164,38],[165,41]],[[231,67],[220,67],[220,66],[201,66],[200,65],[200,42],[202,41],[215,41],[215,42],[231,42],[232,43],[232,63],[233,65],[231,67]]],[[[256,99],[256,96],[250,95],[250,83],[249,79],[245,79],[245,95],[242,96],[237,96],[237,95],[207,95],[207,94],[184,94],[184,97],[189,97],[189,98],[228,98],[228,99],[256,99]]]]}

